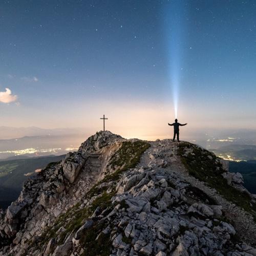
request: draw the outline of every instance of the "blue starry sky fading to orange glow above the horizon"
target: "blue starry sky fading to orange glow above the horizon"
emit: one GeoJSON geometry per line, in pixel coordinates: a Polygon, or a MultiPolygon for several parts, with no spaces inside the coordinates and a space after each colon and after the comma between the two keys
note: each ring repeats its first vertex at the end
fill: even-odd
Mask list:
{"type": "Polygon", "coordinates": [[[5,126],[256,129],[256,1],[0,1],[5,126]]]}

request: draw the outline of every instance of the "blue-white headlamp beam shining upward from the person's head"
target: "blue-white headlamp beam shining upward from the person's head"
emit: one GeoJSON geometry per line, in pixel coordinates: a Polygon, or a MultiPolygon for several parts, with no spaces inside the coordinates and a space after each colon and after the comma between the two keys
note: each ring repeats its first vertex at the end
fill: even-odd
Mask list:
{"type": "Polygon", "coordinates": [[[178,118],[178,107],[181,87],[182,53],[184,50],[185,14],[187,2],[172,1],[165,6],[165,33],[168,53],[168,75],[172,88],[172,100],[175,118],[178,118]]]}

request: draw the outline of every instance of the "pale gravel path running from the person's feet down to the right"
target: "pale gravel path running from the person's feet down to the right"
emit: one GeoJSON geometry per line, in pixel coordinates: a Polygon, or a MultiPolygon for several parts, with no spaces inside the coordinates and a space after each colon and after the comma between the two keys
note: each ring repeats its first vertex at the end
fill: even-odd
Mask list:
{"type": "Polygon", "coordinates": [[[158,151],[159,154],[162,154],[163,159],[167,161],[165,169],[178,174],[181,180],[190,183],[194,187],[198,187],[209,197],[215,199],[216,202],[223,207],[225,216],[233,223],[238,236],[247,244],[256,245],[256,224],[252,216],[242,208],[227,201],[215,189],[207,186],[204,182],[199,181],[193,176],[190,176],[177,154],[177,142],[162,140],[149,143],[151,143],[152,146],[143,155],[140,165],[147,166],[151,161],[150,155],[158,151]]]}

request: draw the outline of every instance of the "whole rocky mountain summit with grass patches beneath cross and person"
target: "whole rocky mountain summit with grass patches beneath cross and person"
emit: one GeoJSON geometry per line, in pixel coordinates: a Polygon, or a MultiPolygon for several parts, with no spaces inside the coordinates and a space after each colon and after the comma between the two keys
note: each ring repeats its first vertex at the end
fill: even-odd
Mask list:
{"type": "Polygon", "coordinates": [[[256,196],[200,146],[99,132],[0,211],[0,255],[256,255],[256,196]]]}

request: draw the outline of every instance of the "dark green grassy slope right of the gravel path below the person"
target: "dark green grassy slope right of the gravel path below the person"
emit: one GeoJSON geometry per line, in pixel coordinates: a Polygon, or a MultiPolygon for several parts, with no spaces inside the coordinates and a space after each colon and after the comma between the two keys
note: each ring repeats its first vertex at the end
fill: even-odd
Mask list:
{"type": "Polygon", "coordinates": [[[256,204],[251,203],[249,195],[227,184],[221,175],[224,170],[220,159],[213,153],[194,144],[183,142],[179,144],[178,154],[191,176],[215,188],[224,198],[244,208],[254,218],[256,217],[256,204]],[[191,150],[188,155],[184,154],[186,148],[191,150]]]}

